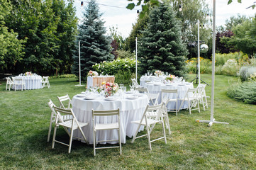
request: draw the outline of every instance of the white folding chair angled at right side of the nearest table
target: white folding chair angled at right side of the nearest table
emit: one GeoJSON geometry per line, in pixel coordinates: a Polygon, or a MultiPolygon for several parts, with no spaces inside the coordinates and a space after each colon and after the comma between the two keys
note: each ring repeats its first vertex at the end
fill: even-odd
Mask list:
{"type": "Polygon", "coordinates": [[[135,120],[135,121],[132,121],[130,123],[135,123],[135,124],[138,124],[138,128],[135,132],[135,134],[133,135],[133,140],[132,140],[132,143],[135,141],[135,139],[139,138],[139,137],[145,137],[147,136],[148,137],[148,145],[150,147],[150,150],[152,150],[152,147],[151,147],[151,142],[155,142],[157,140],[162,140],[162,139],[165,139],[165,144],[167,144],[167,141],[166,141],[166,135],[165,135],[165,125],[164,125],[164,120],[162,118],[162,104],[160,105],[155,105],[155,106],[147,106],[145,108],[145,111],[143,113],[143,117],[140,119],[140,120],[135,120]],[[150,115],[150,113],[157,113],[157,116],[154,118],[152,117],[152,115],[150,115]],[[155,127],[155,124],[157,123],[160,123],[162,124],[162,132],[163,132],[163,136],[162,137],[158,137],[157,139],[155,140],[150,140],[150,134],[153,130],[153,128],[155,127]],[[140,130],[140,126],[143,125],[145,126],[146,130],[147,130],[147,134],[145,135],[140,135],[137,137],[138,135],[138,130],[140,130]],[[151,125],[151,127],[150,127],[151,125]]]}

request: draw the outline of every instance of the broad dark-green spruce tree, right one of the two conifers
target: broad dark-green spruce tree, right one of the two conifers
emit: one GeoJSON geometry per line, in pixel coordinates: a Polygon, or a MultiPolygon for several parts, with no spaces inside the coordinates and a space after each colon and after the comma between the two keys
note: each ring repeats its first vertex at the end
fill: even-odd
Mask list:
{"type": "Polygon", "coordinates": [[[176,76],[184,74],[186,45],[182,42],[181,26],[175,13],[167,4],[155,6],[150,11],[148,28],[138,40],[140,72],[157,69],[176,76]]]}

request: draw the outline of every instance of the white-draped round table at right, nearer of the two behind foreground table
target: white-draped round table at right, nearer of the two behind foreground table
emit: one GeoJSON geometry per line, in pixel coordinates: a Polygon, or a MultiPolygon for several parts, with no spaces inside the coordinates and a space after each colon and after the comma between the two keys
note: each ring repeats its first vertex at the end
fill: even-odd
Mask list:
{"type": "MultiPolygon", "coordinates": [[[[159,97],[158,97],[158,103],[161,103],[162,102],[162,96],[161,96],[161,91],[162,89],[178,89],[178,98],[179,99],[183,99],[184,96],[186,95],[187,93],[187,90],[188,89],[193,89],[194,86],[192,83],[179,83],[179,84],[160,84],[160,83],[148,83],[145,85],[145,87],[148,88],[148,91],[150,92],[150,94],[159,94],[159,97]]],[[[176,98],[176,96],[174,96],[175,94],[165,94],[165,97],[167,98],[176,98]]],[[[179,109],[179,106],[182,104],[182,100],[178,100],[178,109],[179,109]]],[[[183,106],[181,107],[181,109],[184,109],[184,108],[188,108],[188,102],[185,101],[183,106]]],[[[176,110],[176,103],[175,102],[169,102],[167,104],[167,110],[168,111],[173,111],[173,110],[176,110]]]]}

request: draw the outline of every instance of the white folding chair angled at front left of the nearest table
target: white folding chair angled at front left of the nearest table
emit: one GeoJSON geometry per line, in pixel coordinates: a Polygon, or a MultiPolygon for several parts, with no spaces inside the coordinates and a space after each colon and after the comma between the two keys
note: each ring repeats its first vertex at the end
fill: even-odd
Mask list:
{"type": "MultiPolygon", "coordinates": [[[[59,107],[56,107],[56,106],[53,106],[53,108],[55,108],[55,113],[57,113],[57,116],[56,116],[56,119],[55,119],[55,128],[54,128],[54,132],[53,132],[53,139],[52,139],[52,149],[54,148],[55,146],[55,142],[58,142],[62,145],[66,145],[69,147],[68,149],[68,153],[70,153],[71,151],[71,146],[72,146],[72,140],[73,140],[73,132],[74,130],[79,130],[81,133],[82,133],[82,137],[83,138],[80,138],[80,137],[74,137],[74,138],[77,138],[79,140],[84,140],[85,142],[87,142],[87,138],[85,137],[84,135],[84,132],[82,130],[82,128],[84,126],[87,126],[88,123],[81,123],[77,120],[76,116],[74,115],[73,111],[72,111],[72,108],[68,108],[68,109],[65,109],[65,108],[59,108],[59,107]],[[62,115],[72,115],[72,120],[62,120],[62,115]],[[58,140],[56,140],[56,131],[57,131],[57,128],[59,126],[62,126],[63,128],[69,128],[70,132],[68,132],[67,134],[69,135],[69,144],[66,144],[64,142],[60,142],[58,140]]],[[[66,130],[67,132],[67,130],[66,130]]]]}

